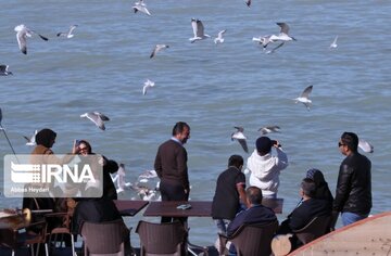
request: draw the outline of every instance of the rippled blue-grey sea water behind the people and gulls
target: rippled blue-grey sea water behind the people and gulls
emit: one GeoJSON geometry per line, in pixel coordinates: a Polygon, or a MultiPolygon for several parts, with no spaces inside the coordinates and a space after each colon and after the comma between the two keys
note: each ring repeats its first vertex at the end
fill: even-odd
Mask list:
{"type": "MultiPolygon", "coordinates": [[[[282,220],[299,201],[299,183],[308,168],[320,169],[332,192],[343,155],[338,140],[354,131],[375,146],[364,153],[373,163],[371,214],[391,209],[391,34],[390,1],[148,0],[151,16],[133,12],[133,1],[14,0],[1,3],[0,64],[13,76],[0,77],[0,107],[14,150],[28,154],[23,136],[51,128],[53,151],[67,153],[75,139],[124,163],[126,179],[153,169],[157,146],[176,121],[187,121],[186,144],[192,200],[212,200],[215,181],[231,154],[245,159],[234,126],[244,127],[250,151],[267,125],[287,152],[290,165],[280,175],[282,220]],[[191,18],[199,18],[210,39],[190,43],[191,18]],[[265,54],[253,37],[290,26],[298,40],[265,54]],[[25,24],[37,35],[28,53],[17,48],[14,27],[25,24]],[[59,31],[77,24],[72,39],[59,31]],[[227,29],[225,42],[213,38],[227,29]],[[339,36],[338,48],[330,50],[339,36]],[[156,43],[168,49],[153,59],[156,43]],[[147,80],[155,86],[146,95],[147,80]],[[292,99],[313,85],[307,111],[292,99]],[[106,130],[80,118],[85,112],[108,115],[106,130]]],[[[12,151],[0,133],[0,170],[12,151]]],[[[0,188],[3,188],[2,175],[0,188]]],[[[121,199],[130,199],[130,192],[121,199]]],[[[1,199],[0,207],[21,207],[21,199],[1,199]]],[[[142,214],[128,218],[136,227],[142,214]]],[[[157,220],[157,219],[149,219],[157,220]]],[[[209,218],[190,218],[190,240],[210,245],[216,229],[209,218]]],[[[339,223],[340,226],[340,223],[339,223]]],[[[134,245],[138,235],[133,233],[134,245]]]]}

